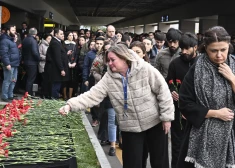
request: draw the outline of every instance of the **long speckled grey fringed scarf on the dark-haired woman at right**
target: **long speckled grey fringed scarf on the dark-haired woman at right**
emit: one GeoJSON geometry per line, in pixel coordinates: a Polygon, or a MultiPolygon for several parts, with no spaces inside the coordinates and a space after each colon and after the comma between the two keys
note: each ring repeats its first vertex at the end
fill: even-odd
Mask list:
{"type": "MultiPolygon", "coordinates": [[[[235,74],[235,58],[229,55],[226,63],[235,74]]],[[[198,104],[214,110],[227,107],[235,112],[232,87],[206,54],[196,63],[194,84],[198,104]]],[[[235,168],[233,124],[234,120],[207,118],[200,128],[192,126],[185,161],[196,168],[235,168]]]]}

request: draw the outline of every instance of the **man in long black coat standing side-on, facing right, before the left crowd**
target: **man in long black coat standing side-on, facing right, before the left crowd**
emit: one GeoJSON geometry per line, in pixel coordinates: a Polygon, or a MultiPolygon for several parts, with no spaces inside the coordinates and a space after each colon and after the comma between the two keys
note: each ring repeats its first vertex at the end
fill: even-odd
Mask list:
{"type": "Polygon", "coordinates": [[[67,53],[62,45],[64,32],[59,28],[55,28],[54,34],[55,36],[47,49],[45,73],[50,76],[47,79],[52,84],[51,96],[58,99],[62,82],[69,80],[69,67],[67,53]]]}

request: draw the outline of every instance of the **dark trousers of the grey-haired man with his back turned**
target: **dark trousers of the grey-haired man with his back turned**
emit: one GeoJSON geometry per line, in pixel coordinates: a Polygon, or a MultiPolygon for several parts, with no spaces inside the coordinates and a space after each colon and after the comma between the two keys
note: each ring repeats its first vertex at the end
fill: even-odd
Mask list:
{"type": "Polygon", "coordinates": [[[25,91],[29,93],[29,95],[33,95],[33,83],[37,77],[38,65],[25,65],[27,81],[25,91]]]}

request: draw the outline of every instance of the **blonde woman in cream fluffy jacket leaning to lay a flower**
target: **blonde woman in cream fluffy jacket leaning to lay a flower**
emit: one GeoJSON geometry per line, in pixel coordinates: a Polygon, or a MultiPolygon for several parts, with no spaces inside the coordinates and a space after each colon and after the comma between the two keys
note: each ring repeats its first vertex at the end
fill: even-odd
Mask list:
{"type": "Polygon", "coordinates": [[[88,92],[69,99],[59,112],[80,111],[109,96],[122,131],[123,168],[142,168],[145,143],[151,166],[168,168],[166,134],[174,119],[174,105],[165,79],[123,44],[109,48],[106,61],[103,78],[88,92]]]}

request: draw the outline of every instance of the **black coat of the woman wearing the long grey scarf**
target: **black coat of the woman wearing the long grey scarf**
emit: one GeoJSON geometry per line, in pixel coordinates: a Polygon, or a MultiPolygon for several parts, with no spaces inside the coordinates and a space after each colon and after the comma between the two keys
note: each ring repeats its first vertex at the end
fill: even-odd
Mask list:
{"type": "Polygon", "coordinates": [[[189,134],[194,125],[199,128],[208,113],[208,108],[196,103],[196,93],[194,88],[194,71],[195,64],[191,66],[186,74],[184,81],[180,87],[180,111],[187,119],[187,125],[185,128],[184,139],[181,144],[179,159],[176,168],[194,168],[194,164],[185,162],[185,157],[188,151],[189,134]]]}

